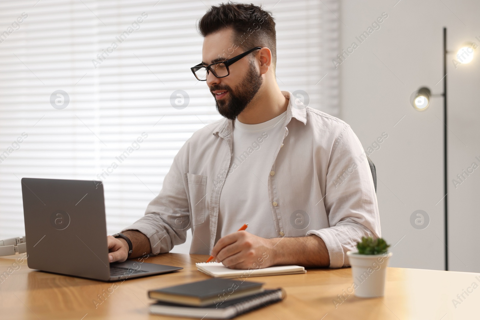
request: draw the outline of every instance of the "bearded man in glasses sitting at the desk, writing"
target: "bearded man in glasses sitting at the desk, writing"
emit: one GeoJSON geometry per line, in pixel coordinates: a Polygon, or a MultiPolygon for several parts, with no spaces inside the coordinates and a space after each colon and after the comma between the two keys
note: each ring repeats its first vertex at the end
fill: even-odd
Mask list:
{"type": "Polygon", "coordinates": [[[192,228],[190,253],[229,268],[348,265],[346,252],[362,236],[381,236],[357,136],[280,91],[270,12],[221,4],[198,28],[203,62],[192,71],[226,119],[185,142],[144,217],[122,231],[132,254],[127,240],[109,236],[110,261],[168,252],[192,228]]]}

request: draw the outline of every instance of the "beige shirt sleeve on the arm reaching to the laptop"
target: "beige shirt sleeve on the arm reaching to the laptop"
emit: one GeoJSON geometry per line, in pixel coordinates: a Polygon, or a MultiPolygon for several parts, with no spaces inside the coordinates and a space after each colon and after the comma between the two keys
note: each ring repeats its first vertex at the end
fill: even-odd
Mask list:
{"type": "Polygon", "coordinates": [[[150,239],[152,254],[168,252],[174,245],[184,243],[187,230],[191,227],[183,173],[188,145],[186,142],[174,157],[163,180],[162,190],[150,201],[145,215],[122,230],[142,232],[150,239]]]}

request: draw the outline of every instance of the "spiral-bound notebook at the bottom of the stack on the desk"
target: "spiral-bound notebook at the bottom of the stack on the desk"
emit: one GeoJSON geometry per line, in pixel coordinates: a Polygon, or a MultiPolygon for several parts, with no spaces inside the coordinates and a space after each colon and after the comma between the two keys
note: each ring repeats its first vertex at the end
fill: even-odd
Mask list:
{"type": "Polygon", "coordinates": [[[222,303],[205,307],[184,306],[175,303],[157,302],[151,304],[149,309],[153,314],[164,316],[190,317],[198,319],[230,319],[242,313],[262,308],[269,304],[284,299],[285,291],[281,288],[265,290],[262,293],[225,300],[222,303]]]}

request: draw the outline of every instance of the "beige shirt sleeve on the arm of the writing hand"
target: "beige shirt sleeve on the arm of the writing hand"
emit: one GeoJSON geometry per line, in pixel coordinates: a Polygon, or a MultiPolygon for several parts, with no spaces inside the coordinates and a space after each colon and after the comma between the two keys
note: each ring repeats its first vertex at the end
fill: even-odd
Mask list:
{"type": "Polygon", "coordinates": [[[324,205],[330,226],[309,230],[307,235],[322,238],[330,268],[349,265],[347,251],[355,250],[361,237],[381,237],[372,172],[360,140],[348,124],[332,147],[324,205]]]}

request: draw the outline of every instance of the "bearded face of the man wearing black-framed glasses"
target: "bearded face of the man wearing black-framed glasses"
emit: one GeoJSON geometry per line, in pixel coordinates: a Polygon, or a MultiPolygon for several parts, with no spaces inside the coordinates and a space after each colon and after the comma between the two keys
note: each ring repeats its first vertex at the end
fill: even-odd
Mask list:
{"type": "MultiPolygon", "coordinates": [[[[205,36],[202,50],[205,65],[218,58],[231,59],[246,51],[238,47],[239,44],[232,43],[232,33],[228,28],[205,36]]],[[[255,52],[229,66],[227,77],[217,78],[212,72],[207,76],[206,83],[215,97],[216,109],[227,119],[236,119],[262,86],[263,78],[256,67],[255,52]]]]}

